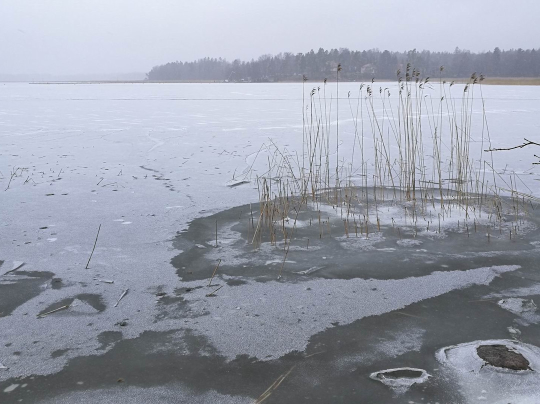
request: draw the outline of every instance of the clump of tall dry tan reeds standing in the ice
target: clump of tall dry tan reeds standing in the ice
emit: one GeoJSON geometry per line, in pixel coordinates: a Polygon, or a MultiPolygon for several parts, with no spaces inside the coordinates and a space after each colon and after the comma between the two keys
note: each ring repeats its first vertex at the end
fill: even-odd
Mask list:
{"type": "MultiPolygon", "coordinates": [[[[347,96],[354,127],[351,134],[340,133],[338,111],[332,111],[333,103],[339,105],[340,70],[341,65],[336,71],[335,98],[327,96],[325,80],[306,99],[304,76],[301,155],[280,150],[273,142],[265,145],[271,157],[266,173],[257,177],[257,225],[251,217],[255,250],[263,237],[272,245],[283,240],[285,263],[299,212],[315,212],[315,222],[322,227],[321,204],[340,213],[346,237],[353,228],[356,235],[360,229],[366,237],[373,229],[380,230],[380,205],[388,202],[404,207],[406,226],[415,231],[419,218],[425,223],[428,212],[428,229],[431,226],[439,232],[441,220],[459,212],[468,235],[469,227],[476,231],[484,216],[489,241],[490,231],[498,228],[502,234],[502,228],[508,227],[511,214],[511,228],[517,235],[529,207],[534,208],[532,202],[538,200],[518,192],[516,174],[506,180],[494,170],[491,153],[483,153],[492,147],[482,75],[471,75],[458,97],[453,93],[454,82],[442,78],[443,66],[436,98],[429,77],[422,79],[420,71],[410,65],[404,73],[397,71],[397,97],[392,98],[388,88],[375,90],[374,80],[361,84],[357,95],[349,92],[347,96]],[[475,92],[482,103],[477,133],[473,133],[475,92]],[[343,139],[346,147],[340,142],[343,139]],[[504,192],[509,199],[502,198],[504,192]],[[292,227],[286,225],[289,221],[293,221],[292,227]]],[[[394,218],[386,225],[390,224],[395,227],[394,218]]]]}

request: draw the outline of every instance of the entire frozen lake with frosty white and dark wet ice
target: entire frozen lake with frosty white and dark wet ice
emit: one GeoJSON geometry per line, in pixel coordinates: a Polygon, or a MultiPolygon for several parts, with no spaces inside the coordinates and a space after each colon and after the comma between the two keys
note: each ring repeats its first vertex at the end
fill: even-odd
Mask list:
{"type": "MultiPolygon", "coordinates": [[[[505,190],[539,196],[539,148],[492,154],[485,175],[508,205],[497,225],[479,208],[437,228],[434,204],[413,228],[390,198],[367,203],[380,204],[369,237],[348,218],[344,231],[333,206],[295,224],[291,215],[284,233],[298,233],[277,280],[286,242],[249,244],[255,178],[267,174],[268,150],[301,154],[314,86],[319,111],[326,91],[335,145],[335,83],[303,93],[300,83],[0,83],[0,402],[254,402],[280,375],[265,402],[537,402],[540,313],[529,300],[540,299],[540,206],[522,194],[512,206],[505,190]],[[529,355],[532,370],[478,371],[475,341],[529,355]],[[377,380],[402,367],[429,378],[377,380]]],[[[359,87],[339,84],[340,149],[328,154],[345,167],[360,158],[350,153],[359,87]]],[[[447,119],[433,87],[422,99],[447,119]]],[[[460,112],[463,84],[451,91],[460,112]]],[[[373,92],[372,113],[388,114],[383,99],[395,105],[397,85],[373,92]]],[[[468,97],[471,156],[489,140],[538,142],[540,87],[475,86],[468,97]]]]}

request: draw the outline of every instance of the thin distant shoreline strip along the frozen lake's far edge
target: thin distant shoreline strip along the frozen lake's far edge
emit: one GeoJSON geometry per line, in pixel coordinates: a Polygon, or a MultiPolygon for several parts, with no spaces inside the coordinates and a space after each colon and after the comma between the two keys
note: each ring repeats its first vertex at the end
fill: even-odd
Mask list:
{"type": "MultiPolygon", "coordinates": [[[[447,83],[455,82],[455,83],[468,83],[470,81],[470,78],[443,78],[444,81],[447,83]]],[[[313,80],[309,81],[309,83],[320,83],[322,80],[313,80]]],[[[328,82],[334,83],[335,80],[328,79],[328,82]]],[[[348,81],[343,80],[340,82],[342,83],[369,83],[371,80],[356,80],[356,81],[348,81]]],[[[379,80],[375,79],[376,83],[388,83],[388,82],[395,82],[395,80],[379,80]]],[[[438,83],[439,79],[430,79],[430,83],[438,83]]],[[[224,80],[70,80],[70,81],[50,81],[50,82],[0,82],[0,83],[28,83],[28,84],[146,84],[146,83],[153,83],[153,84],[252,84],[253,82],[228,82],[226,83],[224,80]]],[[[281,80],[276,82],[262,82],[259,84],[274,84],[274,83],[301,83],[301,80],[281,80]]],[[[491,77],[491,78],[485,78],[482,82],[484,85],[540,85],[540,77],[491,77]]]]}

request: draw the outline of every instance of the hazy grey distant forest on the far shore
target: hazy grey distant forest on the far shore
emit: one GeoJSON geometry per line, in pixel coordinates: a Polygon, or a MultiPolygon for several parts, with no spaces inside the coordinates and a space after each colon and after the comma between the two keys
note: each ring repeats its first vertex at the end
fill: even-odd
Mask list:
{"type": "Polygon", "coordinates": [[[204,58],[193,62],[171,62],[154,66],[146,73],[152,81],[215,80],[235,82],[299,81],[302,75],[309,80],[334,79],[341,64],[340,79],[371,80],[395,79],[398,69],[410,63],[419,69],[421,77],[437,78],[440,66],[445,67],[444,78],[465,78],[471,73],[487,77],[540,77],[540,48],[500,50],[472,53],[455,49],[454,52],[430,52],[416,49],[407,52],[378,49],[350,51],[346,48],[307,53],[279,53],[262,55],[249,62],[232,62],[222,58],[204,58]]]}

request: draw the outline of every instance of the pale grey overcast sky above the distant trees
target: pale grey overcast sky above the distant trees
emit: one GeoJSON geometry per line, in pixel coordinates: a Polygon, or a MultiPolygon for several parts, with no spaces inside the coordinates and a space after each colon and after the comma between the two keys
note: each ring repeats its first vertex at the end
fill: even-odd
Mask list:
{"type": "Polygon", "coordinates": [[[540,48],[536,0],[0,0],[0,73],[147,72],[320,47],[540,48]]]}

